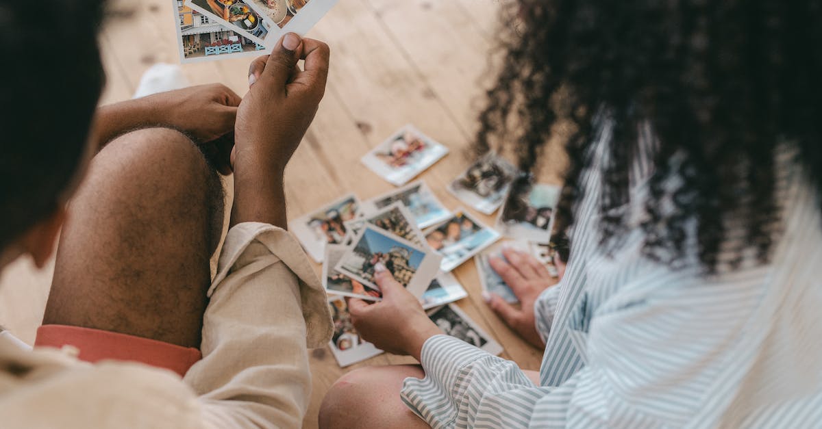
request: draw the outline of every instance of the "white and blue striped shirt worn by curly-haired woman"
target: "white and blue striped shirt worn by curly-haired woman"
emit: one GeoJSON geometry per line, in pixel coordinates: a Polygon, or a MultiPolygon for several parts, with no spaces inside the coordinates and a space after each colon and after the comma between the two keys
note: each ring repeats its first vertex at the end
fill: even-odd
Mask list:
{"type": "MultiPolygon", "coordinates": [[[[639,161],[631,173],[632,201],[647,170],[639,161]]],[[[779,187],[785,224],[771,262],[711,277],[695,256],[681,270],[644,258],[638,230],[606,256],[598,168],[582,180],[565,277],[535,305],[540,385],[436,335],[405,404],[435,428],[822,427],[822,216],[804,176],[788,172],[779,187]]]]}

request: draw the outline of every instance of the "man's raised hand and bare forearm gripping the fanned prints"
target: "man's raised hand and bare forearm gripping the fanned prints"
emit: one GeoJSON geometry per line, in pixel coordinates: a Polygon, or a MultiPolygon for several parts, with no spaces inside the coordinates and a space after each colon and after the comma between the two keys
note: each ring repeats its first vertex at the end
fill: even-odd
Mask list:
{"type": "Polygon", "coordinates": [[[326,90],[328,46],[284,35],[269,56],[249,69],[234,131],[234,205],[231,224],[265,222],[286,227],[285,164],[302,141],[326,90]],[[304,69],[297,62],[305,60],[304,69]]]}

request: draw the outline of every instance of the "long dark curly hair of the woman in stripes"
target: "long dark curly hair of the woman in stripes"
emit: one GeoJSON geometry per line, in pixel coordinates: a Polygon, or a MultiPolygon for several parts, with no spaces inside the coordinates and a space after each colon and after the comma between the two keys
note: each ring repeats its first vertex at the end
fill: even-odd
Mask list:
{"type": "Polygon", "coordinates": [[[707,270],[734,268],[750,250],[768,261],[781,228],[775,159],[785,142],[822,191],[822,2],[520,0],[516,8],[503,25],[506,66],[487,91],[475,148],[513,147],[532,171],[561,136],[570,165],[556,224],[567,227],[597,141],[595,118],[607,113],[601,234],[615,246],[626,233],[616,209],[629,200],[629,167],[649,124],[657,141],[645,255],[681,261],[696,219],[707,270]],[[666,188],[675,176],[681,182],[666,188]],[[673,210],[663,212],[667,196],[673,210]],[[728,225],[745,234],[733,249],[728,225]]]}

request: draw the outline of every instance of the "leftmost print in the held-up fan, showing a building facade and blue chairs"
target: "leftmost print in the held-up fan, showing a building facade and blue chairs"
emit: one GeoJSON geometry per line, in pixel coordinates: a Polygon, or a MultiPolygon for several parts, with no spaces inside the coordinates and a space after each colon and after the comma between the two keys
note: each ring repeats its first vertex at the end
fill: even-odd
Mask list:
{"type": "Polygon", "coordinates": [[[208,16],[190,7],[173,2],[174,20],[177,25],[177,42],[180,62],[201,62],[225,58],[256,57],[266,47],[219,25],[208,16]]]}

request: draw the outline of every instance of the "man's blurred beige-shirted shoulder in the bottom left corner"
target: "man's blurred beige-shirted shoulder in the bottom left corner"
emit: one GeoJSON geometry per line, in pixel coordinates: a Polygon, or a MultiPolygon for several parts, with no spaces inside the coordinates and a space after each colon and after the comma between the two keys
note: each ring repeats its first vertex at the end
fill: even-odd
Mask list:
{"type": "Polygon", "coordinates": [[[171,371],[137,363],[63,367],[4,384],[2,427],[196,427],[192,390],[171,371]]]}

